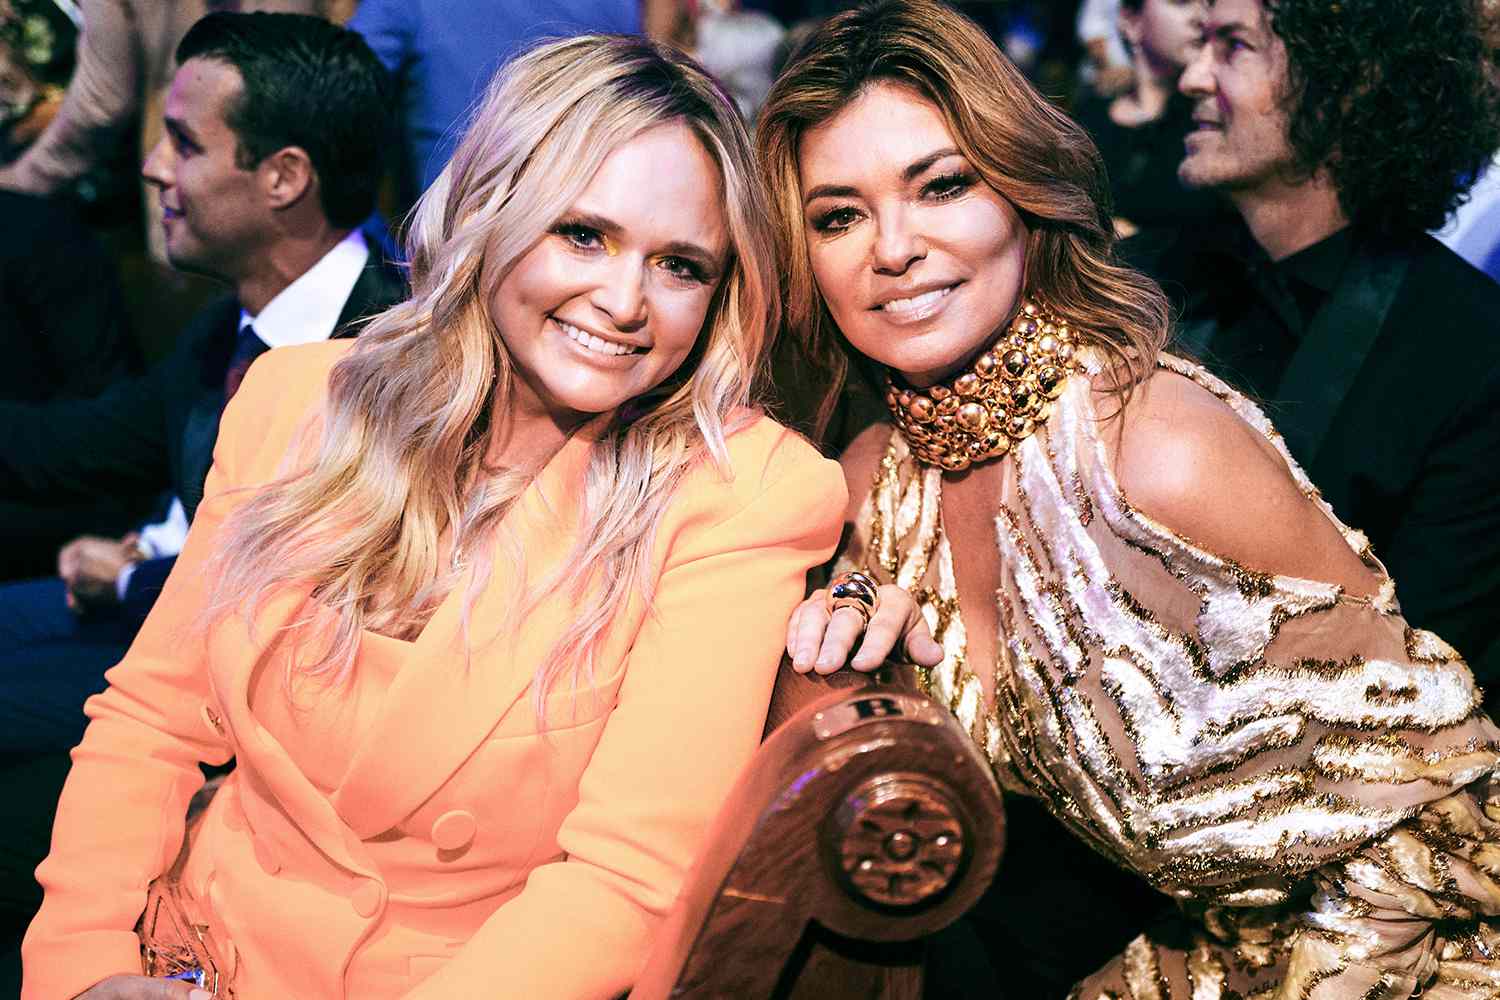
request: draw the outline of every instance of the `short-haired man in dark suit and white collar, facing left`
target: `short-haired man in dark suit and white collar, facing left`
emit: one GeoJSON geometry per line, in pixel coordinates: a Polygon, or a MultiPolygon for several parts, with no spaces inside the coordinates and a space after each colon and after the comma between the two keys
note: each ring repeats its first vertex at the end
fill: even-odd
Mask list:
{"type": "MultiPolygon", "coordinates": [[[[34,768],[38,754],[81,735],[84,699],[104,687],[182,546],[219,414],[249,363],[273,346],[351,336],[402,295],[356,228],[374,207],[390,135],[390,81],[364,42],[310,16],[216,13],[189,30],[177,58],[166,136],[142,172],[160,192],[172,264],[222,279],[232,295],[140,378],[88,400],[0,405],[0,498],[170,498],[136,535],[68,546],[60,579],[0,591],[0,768],[26,775],[22,789],[0,774],[6,810],[56,801],[60,768],[34,768]]],[[[24,925],[45,841],[20,844],[12,823],[3,829],[0,919],[24,925]]]]}

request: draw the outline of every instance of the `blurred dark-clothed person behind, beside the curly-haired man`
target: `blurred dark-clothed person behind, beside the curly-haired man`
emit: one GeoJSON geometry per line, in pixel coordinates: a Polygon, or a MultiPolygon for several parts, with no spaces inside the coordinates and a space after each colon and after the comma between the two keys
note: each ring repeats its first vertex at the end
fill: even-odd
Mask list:
{"type": "Polygon", "coordinates": [[[1074,103],[1104,157],[1120,235],[1227,211],[1218,195],[1178,178],[1182,136],[1192,126],[1192,102],[1178,93],[1178,78],[1203,42],[1203,10],[1204,0],[1119,0],[1130,85],[1113,97],[1086,90],[1074,103]]]}

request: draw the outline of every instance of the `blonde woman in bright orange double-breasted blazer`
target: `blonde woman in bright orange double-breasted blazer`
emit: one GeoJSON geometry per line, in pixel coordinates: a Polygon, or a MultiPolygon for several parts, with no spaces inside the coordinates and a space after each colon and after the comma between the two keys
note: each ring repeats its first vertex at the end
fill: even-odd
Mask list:
{"type": "Polygon", "coordinates": [[[140,975],[164,874],[219,996],[630,987],[844,502],[750,408],[765,217],[687,58],[582,37],[501,73],[417,210],[411,301],[234,397],[88,703],[26,997],[188,996],[140,975]]]}

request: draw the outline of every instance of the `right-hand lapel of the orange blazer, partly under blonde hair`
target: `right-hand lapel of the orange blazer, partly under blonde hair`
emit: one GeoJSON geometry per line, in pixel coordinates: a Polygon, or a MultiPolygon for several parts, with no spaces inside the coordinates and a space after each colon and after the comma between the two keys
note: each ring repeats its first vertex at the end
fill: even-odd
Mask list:
{"type": "MultiPolygon", "coordinates": [[[[513,511],[526,543],[526,580],[546,579],[576,540],[578,492],[590,441],[573,436],[537,475],[513,511]]],[[[496,549],[502,556],[504,549],[496,549]]],[[[456,772],[501,718],[531,690],[558,639],[546,615],[496,628],[514,607],[519,582],[496,564],[464,628],[465,577],[448,594],[386,693],[360,739],[333,805],[362,838],[381,834],[420,807],[456,772]],[[543,627],[537,628],[542,621],[543,627]]]]}

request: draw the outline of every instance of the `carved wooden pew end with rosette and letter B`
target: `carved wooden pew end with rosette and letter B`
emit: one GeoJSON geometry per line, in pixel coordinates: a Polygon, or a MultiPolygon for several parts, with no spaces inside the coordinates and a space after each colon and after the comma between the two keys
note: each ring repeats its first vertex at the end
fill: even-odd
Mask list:
{"type": "Polygon", "coordinates": [[[892,667],[806,678],[783,664],[768,730],[632,1000],[915,1000],[924,939],[999,865],[988,765],[892,667]]]}

